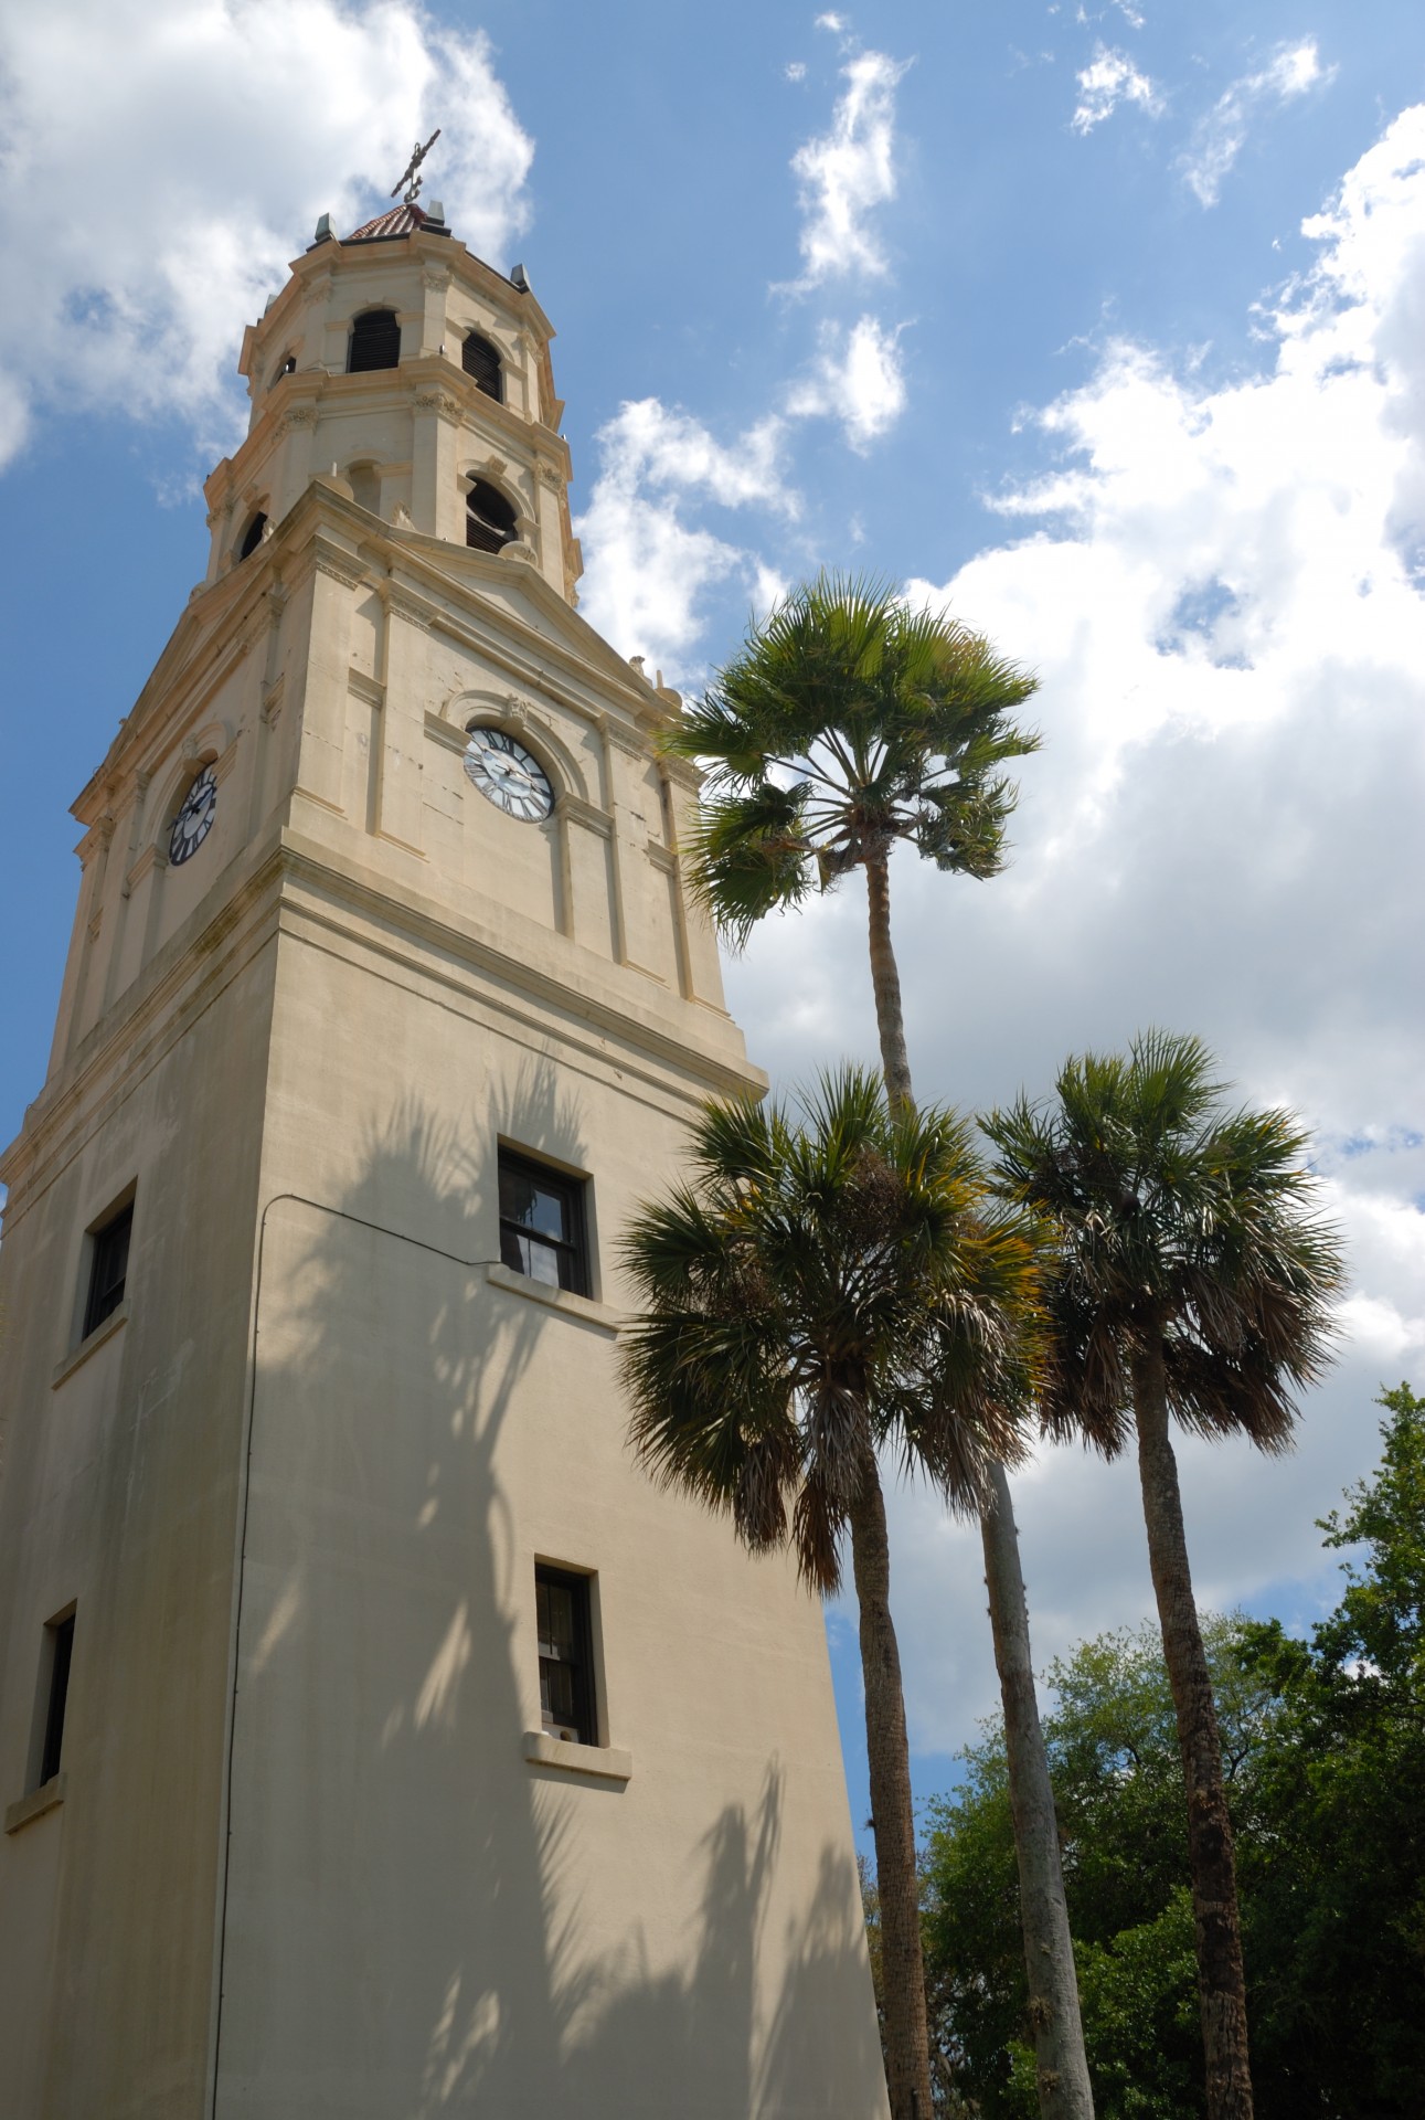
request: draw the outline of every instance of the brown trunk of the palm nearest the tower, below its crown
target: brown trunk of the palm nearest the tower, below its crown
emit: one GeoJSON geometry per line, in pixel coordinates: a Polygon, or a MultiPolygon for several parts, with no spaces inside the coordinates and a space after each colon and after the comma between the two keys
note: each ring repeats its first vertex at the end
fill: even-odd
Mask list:
{"type": "Polygon", "coordinates": [[[891,1541],[880,1473],[869,1448],[850,1509],[850,1560],[861,1609],[865,1753],[880,1893],[880,1967],[886,2003],[891,2120],[931,2120],[931,2039],[920,1957],[920,1876],[910,1800],[910,1745],[901,1654],[891,1624],[891,1541]]]}

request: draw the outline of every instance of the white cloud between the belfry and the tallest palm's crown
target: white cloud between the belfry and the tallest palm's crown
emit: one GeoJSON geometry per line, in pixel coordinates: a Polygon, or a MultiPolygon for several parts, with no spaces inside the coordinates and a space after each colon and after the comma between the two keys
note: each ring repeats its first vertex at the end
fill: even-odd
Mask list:
{"type": "MultiPolygon", "coordinates": [[[[702,598],[729,575],[761,587],[759,562],[685,522],[685,500],[757,505],[795,517],[799,494],[782,460],[785,422],[768,418],[734,447],[657,399],[621,405],[598,430],[600,469],[575,524],[587,555],[583,615],[623,653],[649,655],[668,676],[689,668],[702,598]]],[[[693,657],[696,659],[696,657],[693,657]]]]}

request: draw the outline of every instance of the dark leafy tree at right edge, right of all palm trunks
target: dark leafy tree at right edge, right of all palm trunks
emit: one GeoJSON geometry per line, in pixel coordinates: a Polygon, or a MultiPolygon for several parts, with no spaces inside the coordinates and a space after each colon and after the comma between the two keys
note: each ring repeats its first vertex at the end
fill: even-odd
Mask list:
{"type": "Polygon", "coordinates": [[[1321,1522],[1344,1550],[1336,1611],[1294,1641],[1247,1630],[1281,1696],[1272,1823],[1243,1895],[1264,2120],[1408,2120],[1425,2082],[1425,1399],[1380,1401],[1383,1459],[1321,1522]]]}

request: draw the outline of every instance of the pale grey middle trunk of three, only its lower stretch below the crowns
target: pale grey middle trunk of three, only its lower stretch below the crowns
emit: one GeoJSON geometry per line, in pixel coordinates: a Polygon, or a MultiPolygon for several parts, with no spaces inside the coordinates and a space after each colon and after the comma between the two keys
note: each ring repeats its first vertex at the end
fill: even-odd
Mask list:
{"type": "Polygon", "coordinates": [[[999,1694],[1005,1704],[1009,1808],[1014,1813],[1014,1853],[1020,1866],[1020,1923],[1039,2112],[1043,2120],[1094,2120],[1065,1874],[1058,1859],[1058,1819],[1054,1817],[1050,1762],[1035,1698],[1035,1666],[1028,1656],[1028,1603],[1024,1598],[1020,1539],[1014,1529],[1005,1467],[995,1465],[990,1480],[995,1501],[982,1514],[980,1531],[984,1535],[984,1584],[990,1592],[999,1694]]]}

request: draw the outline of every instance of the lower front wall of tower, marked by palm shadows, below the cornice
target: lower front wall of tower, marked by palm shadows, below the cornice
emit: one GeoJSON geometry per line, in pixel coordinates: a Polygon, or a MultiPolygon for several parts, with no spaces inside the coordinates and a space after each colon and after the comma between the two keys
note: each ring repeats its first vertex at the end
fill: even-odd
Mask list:
{"type": "Polygon", "coordinates": [[[700,1083],[509,999],[286,924],[216,2109],[872,2116],[819,1605],[623,1444],[615,1236],[700,1083]],[[500,1141],[590,1174],[600,1300],[456,1264],[500,1141]],[[587,1762],[526,1757],[536,1558],[596,1571],[587,1762]]]}

